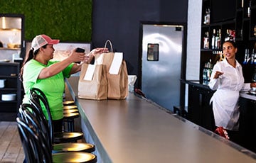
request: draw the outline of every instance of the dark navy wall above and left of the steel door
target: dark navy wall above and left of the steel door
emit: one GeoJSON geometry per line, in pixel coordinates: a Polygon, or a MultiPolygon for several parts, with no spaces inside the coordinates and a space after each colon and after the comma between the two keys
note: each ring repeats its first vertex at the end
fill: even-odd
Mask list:
{"type": "Polygon", "coordinates": [[[124,52],[128,73],[138,76],[141,23],[186,23],[187,13],[188,0],[93,1],[92,47],[104,47],[111,40],[114,52],[124,52]]]}

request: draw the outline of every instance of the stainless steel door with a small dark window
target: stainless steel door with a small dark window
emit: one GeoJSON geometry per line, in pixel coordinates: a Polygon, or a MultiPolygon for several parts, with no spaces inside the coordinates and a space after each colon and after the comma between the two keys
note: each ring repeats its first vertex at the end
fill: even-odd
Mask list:
{"type": "Polygon", "coordinates": [[[180,103],[183,26],[143,25],[142,91],[173,111],[180,103]]]}

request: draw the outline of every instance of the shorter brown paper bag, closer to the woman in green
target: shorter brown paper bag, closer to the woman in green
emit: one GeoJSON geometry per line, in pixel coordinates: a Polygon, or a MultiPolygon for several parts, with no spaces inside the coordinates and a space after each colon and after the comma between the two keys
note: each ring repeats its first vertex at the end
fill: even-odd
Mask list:
{"type": "Polygon", "coordinates": [[[78,81],[78,97],[80,99],[105,100],[107,99],[107,73],[102,64],[95,65],[92,81],[85,80],[88,64],[82,64],[78,81]]]}

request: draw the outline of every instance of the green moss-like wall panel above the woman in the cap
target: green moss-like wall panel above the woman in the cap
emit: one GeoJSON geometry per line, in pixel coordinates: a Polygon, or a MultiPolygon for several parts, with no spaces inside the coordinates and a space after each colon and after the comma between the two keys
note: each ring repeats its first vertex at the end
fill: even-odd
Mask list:
{"type": "Polygon", "coordinates": [[[25,17],[25,39],[46,34],[69,42],[90,42],[92,0],[1,0],[0,13],[25,17]]]}

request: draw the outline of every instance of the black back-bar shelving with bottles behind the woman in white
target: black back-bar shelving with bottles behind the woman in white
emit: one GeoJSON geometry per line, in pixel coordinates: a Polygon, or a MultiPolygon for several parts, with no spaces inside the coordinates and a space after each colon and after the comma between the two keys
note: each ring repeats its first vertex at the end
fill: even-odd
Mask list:
{"type": "MultiPolygon", "coordinates": [[[[232,30],[235,33],[233,36],[235,42],[238,45],[238,54],[244,54],[245,48],[249,48],[251,51],[255,48],[256,52],[256,35],[254,28],[256,27],[256,0],[203,0],[202,6],[202,26],[201,26],[201,66],[200,66],[200,80],[203,81],[203,65],[205,62],[208,62],[211,59],[213,64],[218,60],[215,60],[218,55],[213,54],[215,51],[222,51],[222,47],[219,49],[212,49],[212,38],[213,38],[213,29],[216,31],[218,29],[221,30],[220,36],[222,45],[225,41],[225,35],[227,30],[232,30]],[[228,5],[224,5],[228,4],[228,5]],[[225,10],[222,9],[225,7],[225,10]],[[249,8],[250,7],[250,8],[249,8]],[[203,24],[205,20],[206,11],[210,9],[210,24],[203,24]],[[248,10],[250,9],[250,10],[248,10]],[[227,13],[225,15],[223,13],[227,13]],[[206,33],[209,35],[209,48],[203,48],[204,38],[206,38],[206,33]]],[[[250,51],[250,55],[252,55],[250,51]]],[[[256,55],[256,53],[255,53],[256,55]]],[[[243,55],[236,56],[238,62],[242,64],[244,60],[243,55]]],[[[244,65],[243,65],[244,67],[244,65]]],[[[245,71],[245,81],[251,79],[250,74],[247,67],[244,67],[243,71],[245,71]]],[[[249,69],[250,72],[250,69],[249,69]]]]}

